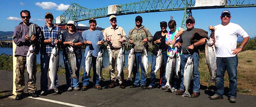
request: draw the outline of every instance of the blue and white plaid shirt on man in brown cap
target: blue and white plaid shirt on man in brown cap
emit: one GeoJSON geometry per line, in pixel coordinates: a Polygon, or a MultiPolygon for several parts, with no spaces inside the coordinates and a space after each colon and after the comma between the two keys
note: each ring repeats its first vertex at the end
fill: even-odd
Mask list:
{"type": "MultiPolygon", "coordinates": [[[[58,28],[56,26],[52,26],[52,30],[50,31],[48,29],[48,26],[45,24],[44,26],[41,27],[41,29],[43,32],[42,38],[44,40],[48,40],[48,39],[52,38],[52,42],[54,42],[54,40],[57,37],[58,37],[58,40],[62,39],[60,28],[58,28]]],[[[54,47],[53,43],[44,43],[41,45],[40,53],[43,55],[51,56],[53,47],[54,47]]]]}

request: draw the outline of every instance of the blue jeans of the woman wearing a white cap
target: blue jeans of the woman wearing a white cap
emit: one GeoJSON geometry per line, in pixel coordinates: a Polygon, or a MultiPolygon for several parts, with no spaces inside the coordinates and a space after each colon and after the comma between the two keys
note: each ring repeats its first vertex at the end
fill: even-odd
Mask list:
{"type": "Polygon", "coordinates": [[[65,62],[65,71],[66,71],[66,82],[67,82],[67,86],[68,87],[78,87],[78,81],[79,81],[79,71],[80,71],[80,65],[81,65],[81,61],[82,61],[82,58],[76,58],[76,78],[72,78],[72,79],[69,79],[71,77],[71,75],[73,74],[72,73],[72,70],[70,68],[70,65],[68,64],[68,57],[64,57],[63,55],[63,60],[65,62]]]}

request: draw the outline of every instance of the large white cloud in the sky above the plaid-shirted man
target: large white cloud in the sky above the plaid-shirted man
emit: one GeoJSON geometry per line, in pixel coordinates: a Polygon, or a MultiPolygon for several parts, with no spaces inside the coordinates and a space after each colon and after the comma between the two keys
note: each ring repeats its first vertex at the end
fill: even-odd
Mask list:
{"type": "Polygon", "coordinates": [[[42,2],[42,3],[36,2],[35,4],[37,6],[43,8],[44,10],[56,9],[58,11],[67,10],[68,7],[70,6],[68,4],[65,5],[65,4],[62,4],[62,3],[60,5],[57,5],[56,3],[53,3],[53,2],[42,2]]]}

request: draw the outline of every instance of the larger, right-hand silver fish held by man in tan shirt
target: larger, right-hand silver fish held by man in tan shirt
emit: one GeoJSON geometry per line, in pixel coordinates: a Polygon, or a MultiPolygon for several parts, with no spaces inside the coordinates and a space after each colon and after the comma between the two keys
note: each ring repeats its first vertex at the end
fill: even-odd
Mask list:
{"type": "Polygon", "coordinates": [[[121,78],[121,72],[123,71],[123,68],[124,68],[124,48],[121,48],[120,50],[119,50],[119,53],[118,53],[118,55],[117,55],[117,62],[116,62],[116,64],[117,64],[117,71],[118,71],[118,74],[117,74],[117,76],[116,76],[116,80],[117,79],[120,79],[120,80],[122,80],[122,78],[121,78]]]}

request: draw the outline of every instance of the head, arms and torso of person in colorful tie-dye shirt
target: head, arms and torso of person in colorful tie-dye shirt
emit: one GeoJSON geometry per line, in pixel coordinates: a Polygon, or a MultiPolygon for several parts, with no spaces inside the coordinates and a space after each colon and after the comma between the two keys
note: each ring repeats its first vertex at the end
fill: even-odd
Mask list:
{"type": "Polygon", "coordinates": [[[174,44],[178,42],[178,40],[180,39],[180,35],[184,32],[184,29],[180,27],[176,28],[175,20],[170,20],[168,22],[168,27],[170,31],[166,34],[165,38],[165,43],[168,45],[167,56],[169,56],[170,53],[177,54],[177,52],[179,52],[181,55],[181,47],[177,48],[174,46],[174,44]]]}

